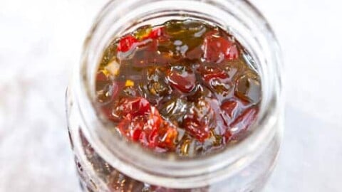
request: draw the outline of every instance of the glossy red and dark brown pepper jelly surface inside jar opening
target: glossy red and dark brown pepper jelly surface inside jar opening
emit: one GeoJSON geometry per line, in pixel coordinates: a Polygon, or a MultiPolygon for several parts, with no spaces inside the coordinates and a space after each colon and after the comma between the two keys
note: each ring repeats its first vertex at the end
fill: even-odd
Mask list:
{"type": "Polygon", "coordinates": [[[96,76],[113,129],[159,153],[197,156],[246,137],[260,77],[234,36],[197,20],[142,26],[115,39],[96,76]]]}

